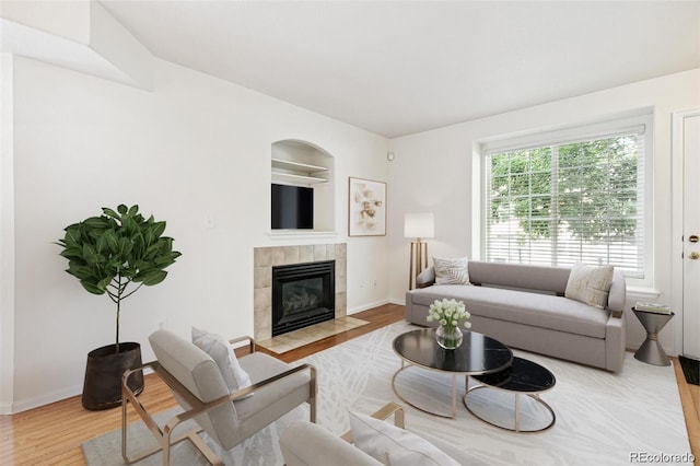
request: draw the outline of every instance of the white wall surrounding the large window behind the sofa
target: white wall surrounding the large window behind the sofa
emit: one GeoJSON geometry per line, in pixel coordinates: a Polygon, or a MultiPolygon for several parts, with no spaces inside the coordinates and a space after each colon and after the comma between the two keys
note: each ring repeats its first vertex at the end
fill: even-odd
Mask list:
{"type": "MultiPolygon", "coordinates": [[[[478,208],[472,196],[475,144],[480,141],[523,131],[575,126],[625,114],[643,107],[654,108],[654,276],[652,290],[628,294],[629,308],[635,301],[674,301],[672,293],[672,206],[670,130],[674,110],[700,106],[700,70],[691,70],[654,80],[615,88],[588,95],[553,102],[482,118],[433,131],[392,140],[396,159],[392,163],[389,197],[394,200],[390,221],[401,224],[404,213],[432,211],[435,238],[429,241],[431,255],[479,257],[478,208]],[[651,294],[648,294],[651,293],[651,294]]],[[[399,229],[390,233],[392,300],[402,303],[408,288],[409,240],[399,229]]],[[[638,348],[644,331],[631,312],[626,313],[628,347],[638,348]]],[[[660,338],[670,354],[679,351],[674,340],[673,319],[660,338]]]]}

